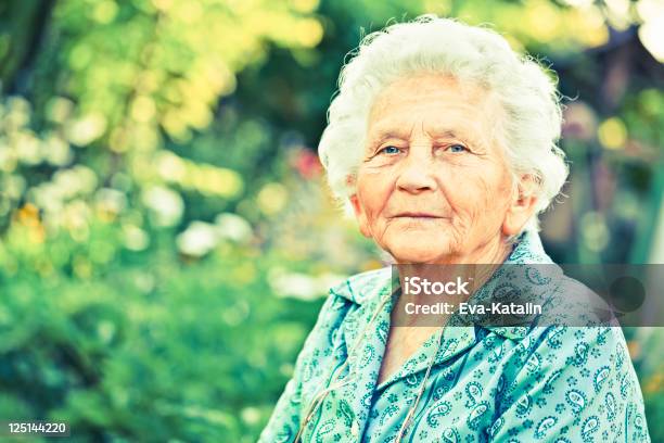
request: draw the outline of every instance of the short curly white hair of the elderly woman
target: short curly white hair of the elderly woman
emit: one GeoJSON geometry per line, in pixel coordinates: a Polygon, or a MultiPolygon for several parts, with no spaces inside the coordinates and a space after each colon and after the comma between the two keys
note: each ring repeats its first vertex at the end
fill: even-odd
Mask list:
{"type": "Polygon", "coordinates": [[[491,29],[433,14],[369,34],[350,55],[341,69],[318,147],[330,188],[347,214],[375,97],[400,78],[440,73],[497,94],[505,110],[497,141],[505,148],[514,182],[529,175],[537,183],[536,211],[523,230],[540,229],[538,214],[558,195],[569,174],[565,154],[557,145],[562,110],[551,71],[514,52],[491,29]]]}

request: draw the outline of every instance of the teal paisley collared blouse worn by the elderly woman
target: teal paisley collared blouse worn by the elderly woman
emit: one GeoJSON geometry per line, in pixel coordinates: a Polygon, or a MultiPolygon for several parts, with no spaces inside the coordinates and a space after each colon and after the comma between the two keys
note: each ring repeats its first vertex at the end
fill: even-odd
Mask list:
{"type": "MultiPolygon", "coordinates": [[[[506,263],[553,262],[537,232],[526,231],[506,263]]],[[[335,371],[336,380],[353,377],[323,397],[302,441],[394,442],[438,340],[403,442],[650,442],[641,391],[617,327],[445,328],[376,385],[393,304],[370,318],[390,283],[386,268],[331,289],[259,442],[292,442],[335,371]],[[358,337],[359,346],[352,347],[358,337]]]]}

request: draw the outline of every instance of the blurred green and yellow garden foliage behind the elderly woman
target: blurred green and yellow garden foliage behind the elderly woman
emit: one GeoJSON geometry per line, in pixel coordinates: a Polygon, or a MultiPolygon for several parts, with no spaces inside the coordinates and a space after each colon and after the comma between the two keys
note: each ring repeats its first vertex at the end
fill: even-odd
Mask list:
{"type": "MultiPolygon", "coordinates": [[[[546,55],[578,99],[572,203],[545,240],[563,262],[646,260],[656,14],[571,3],[2,2],[0,418],[66,420],[80,441],[257,438],[325,288],[380,266],[314,147],[346,53],[393,17],[488,22],[546,55]]],[[[657,422],[664,370],[640,350],[662,336],[626,333],[657,422]]]]}

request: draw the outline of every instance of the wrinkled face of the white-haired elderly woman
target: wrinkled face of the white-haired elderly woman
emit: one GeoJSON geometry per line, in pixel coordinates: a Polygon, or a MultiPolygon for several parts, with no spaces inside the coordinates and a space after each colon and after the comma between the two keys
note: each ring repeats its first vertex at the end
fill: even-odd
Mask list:
{"type": "Polygon", "coordinates": [[[512,192],[495,136],[501,111],[484,89],[444,75],[385,88],[350,197],[361,232],[397,263],[477,263],[518,233],[535,199],[512,192]]]}

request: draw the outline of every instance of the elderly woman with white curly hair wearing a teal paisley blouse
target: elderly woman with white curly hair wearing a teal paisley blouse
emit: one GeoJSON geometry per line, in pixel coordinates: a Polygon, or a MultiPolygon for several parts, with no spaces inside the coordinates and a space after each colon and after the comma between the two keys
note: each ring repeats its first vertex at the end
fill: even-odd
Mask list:
{"type": "MultiPolygon", "coordinates": [[[[537,214],[567,175],[560,127],[537,63],[426,15],[365,38],[320,156],[396,264],[551,265],[537,214]]],[[[650,440],[620,328],[397,325],[391,274],[332,288],[261,442],[650,440]]]]}

